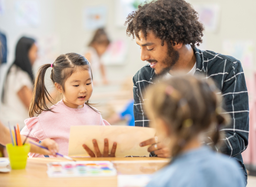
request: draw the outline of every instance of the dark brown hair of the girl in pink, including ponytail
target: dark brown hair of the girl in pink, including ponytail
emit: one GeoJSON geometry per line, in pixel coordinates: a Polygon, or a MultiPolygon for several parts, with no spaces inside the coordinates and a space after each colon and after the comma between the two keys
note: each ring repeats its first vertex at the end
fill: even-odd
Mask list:
{"type": "MultiPolygon", "coordinates": [[[[35,79],[34,90],[32,101],[29,106],[29,116],[34,117],[34,113],[41,114],[42,111],[52,111],[48,106],[46,99],[51,102],[49,97],[49,92],[47,91],[44,84],[44,75],[46,70],[51,67],[51,64],[42,65],[37,73],[37,78],[35,79]]],[[[58,83],[63,88],[65,92],[65,81],[71,76],[77,68],[82,68],[91,72],[91,67],[87,59],[77,53],[67,53],[58,56],[52,65],[51,80],[53,84],[58,83]]],[[[91,78],[93,79],[93,74],[91,72],[91,78]]],[[[52,103],[52,102],[51,102],[52,103]]],[[[91,109],[98,112],[96,109],[91,107],[89,101],[85,103],[91,109]]],[[[52,111],[53,112],[53,111],[52,111]]]]}

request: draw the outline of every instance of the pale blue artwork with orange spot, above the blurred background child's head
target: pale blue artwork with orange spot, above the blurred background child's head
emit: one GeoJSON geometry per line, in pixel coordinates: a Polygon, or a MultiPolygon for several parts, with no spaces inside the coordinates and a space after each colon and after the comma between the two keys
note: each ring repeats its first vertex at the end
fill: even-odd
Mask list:
{"type": "Polygon", "coordinates": [[[107,20],[106,6],[88,6],[83,10],[83,27],[88,30],[96,30],[104,27],[107,20]]]}

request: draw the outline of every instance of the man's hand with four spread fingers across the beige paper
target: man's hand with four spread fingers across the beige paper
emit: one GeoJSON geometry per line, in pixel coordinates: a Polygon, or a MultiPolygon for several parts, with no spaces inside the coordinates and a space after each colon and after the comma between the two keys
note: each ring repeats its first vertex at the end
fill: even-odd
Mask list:
{"type": "Polygon", "coordinates": [[[94,147],[94,154],[93,151],[91,151],[85,144],[83,144],[83,148],[85,151],[90,155],[90,157],[115,157],[116,152],[116,142],[113,143],[113,147],[111,149],[111,153],[109,154],[109,140],[104,139],[104,150],[103,154],[100,153],[99,146],[96,139],[93,139],[93,147],[94,147]]]}

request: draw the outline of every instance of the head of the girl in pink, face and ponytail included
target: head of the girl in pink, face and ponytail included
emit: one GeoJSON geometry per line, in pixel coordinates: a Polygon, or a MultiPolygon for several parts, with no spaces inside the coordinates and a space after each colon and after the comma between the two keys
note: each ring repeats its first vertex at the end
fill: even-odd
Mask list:
{"type": "Polygon", "coordinates": [[[63,102],[71,108],[81,108],[88,104],[93,92],[93,74],[89,62],[85,57],[76,53],[58,56],[53,64],[45,64],[39,68],[33,99],[30,105],[30,117],[33,113],[40,114],[49,111],[46,99],[49,93],[44,85],[44,75],[47,68],[52,66],[51,80],[55,88],[62,93],[63,102]]]}

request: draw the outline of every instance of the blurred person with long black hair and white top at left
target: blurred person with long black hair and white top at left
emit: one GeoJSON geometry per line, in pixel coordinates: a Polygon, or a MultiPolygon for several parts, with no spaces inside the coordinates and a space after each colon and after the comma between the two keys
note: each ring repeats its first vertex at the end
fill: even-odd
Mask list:
{"type": "Polygon", "coordinates": [[[9,68],[1,96],[0,119],[6,125],[25,126],[24,120],[29,117],[28,108],[32,99],[34,76],[32,66],[38,57],[38,47],[32,38],[19,39],[15,61],[9,68]]]}

